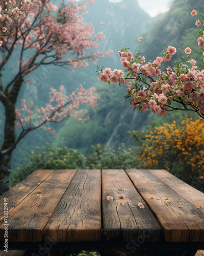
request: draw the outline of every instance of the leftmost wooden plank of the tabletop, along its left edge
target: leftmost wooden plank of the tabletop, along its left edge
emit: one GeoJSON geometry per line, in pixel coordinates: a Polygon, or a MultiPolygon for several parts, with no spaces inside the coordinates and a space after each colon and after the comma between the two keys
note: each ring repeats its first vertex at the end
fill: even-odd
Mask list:
{"type": "Polygon", "coordinates": [[[27,178],[16,184],[10,190],[6,191],[0,197],[0,221],[4,219],[4,198],[8,199],[8,212],[18,205],[25,197],[27,197],[36,187],[45,180],[53,170],[36,170],[27,178]]]}

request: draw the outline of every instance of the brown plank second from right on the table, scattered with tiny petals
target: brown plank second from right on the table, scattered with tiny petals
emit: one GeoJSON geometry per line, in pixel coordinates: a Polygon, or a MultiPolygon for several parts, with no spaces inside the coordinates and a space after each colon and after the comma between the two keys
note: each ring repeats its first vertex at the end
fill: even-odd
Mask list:
{"type": "Polygon", "coordinates": [[[204,213],[149,170],[126,170],[161,224],[166,242],[204,242],[204,213]],[[154,196],[156,199],[151,199],[154,196]],[[169,200],[165,200],[168,197],[169,200]],[[178,207],[182,205],[182,208],[178,207]]]}

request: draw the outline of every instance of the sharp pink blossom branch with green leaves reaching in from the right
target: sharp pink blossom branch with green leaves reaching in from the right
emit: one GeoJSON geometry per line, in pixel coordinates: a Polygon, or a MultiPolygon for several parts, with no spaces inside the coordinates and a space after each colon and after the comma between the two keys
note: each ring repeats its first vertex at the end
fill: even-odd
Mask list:
{"type": "MultiPolygon", "coordinates": [[[[191,15],[197,15],[196,10],[191,15]]],[[[200,15],[202,18],[203,14],[200,15]]],[[[203,20],[196,20],[195,25],[199,27],[203,20]]],[[[204,29],[198,31],[198,47],[204,55],[204,29]]],[[[141,41],[142,37],[138,37],[141,41]]],[[[162,49],[161,56],[154,61],[145,63],[145,57],[140,53],[135,55],[129,48],[122,47],[118,52],[122,70],[111,70],[110,68],[97,69],[98,79],[106,83],[113,82],[127,86],[126,99],[130,105],[141,112],[150,110],[154,114],[165,116],[169,111],[181,110],[196,112],[200,119],[204,119],[204,70],[196,66],[196,60],[190,58],[191,49],[184,49],[182,62],[176,63],[175,67],[168,66],[162,70],[162,63],[168,62],[176,53],[176,48],[169,45],[162,49]],[[179,106],[172,105],[177,102],[179,106]]]]}

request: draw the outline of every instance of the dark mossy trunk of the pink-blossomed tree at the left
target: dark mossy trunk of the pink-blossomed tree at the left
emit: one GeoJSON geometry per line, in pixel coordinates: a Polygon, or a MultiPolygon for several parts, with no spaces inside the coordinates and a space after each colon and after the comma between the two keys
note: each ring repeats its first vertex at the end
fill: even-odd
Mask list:
{"type": "MultiPolygon", "coordinates": [[[[2,144],[2,154],[0,156],[0,179],[6,181],[9,177],[11,169],[11,154],[15,146],[15,103],[18,97],[22,79],[17,78],[10,92],[5,92],[6,98],[2,100],[5,107],[5,126],[4,126],[4,142],[2,144]],[[9,149],[10,148],[10,149],[9,149]],[[9,151],[7,152],[7,150],[9,151]]],[[[4,193],[8,190],[8,184],[1,181],[0,191],[4,193]]]]}

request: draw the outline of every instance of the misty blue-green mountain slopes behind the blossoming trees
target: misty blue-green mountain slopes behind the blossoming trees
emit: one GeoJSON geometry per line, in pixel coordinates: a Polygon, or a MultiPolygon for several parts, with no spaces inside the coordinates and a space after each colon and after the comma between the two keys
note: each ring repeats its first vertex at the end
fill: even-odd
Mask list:
{"type": "MultiPolygon", "coordinates": [[[[106,40],[101,42],[99,51],[112,49],[114,53],[106,59],[99,59],[97,65],[110,68],[121,69],[120,58],[117,54],[121,46],[130,47],[133,53],[143,52],[146,59],[154,59],[162,48],[172,44],[177,48],[177,53],[172,59],[179,60],[184,54],[186,47],[191,47],[192,57],[197,58],[196,53],[196,17],[190,16],[191,9],[197,8],[201,12],[202,1],[176,0],[172,3],[169,12],[155,18],[150,17],[138,6],[136,0],[123,0],[119,4],[111,4],[108,0],[96,0],[87,10],[89,14],[85,17],[85,22],[95,26],[95,32],[103,31],[106,40]],[[103,21],[103,26],[97,25],[103,21]],[[142,36],[143,40],[138,41],[137,37],[142,36]],[[177,59],[176,59],[177,58],[177,59]]],[[[202,61],[200,62],[203,63],[202,61]]],[[[168,65],[169,65],[168,64],[168,65]]],[[[132,139],[129,131],[141,130],[152,120],[158,124],[171,121],[173,118],[181,118],[179,112],[160,118],[152,113],[141,114],[129,106],[123,96],[126,93],[126,86],[119,87],[117,84],[101,83],[95,73],[96,67],[90,63],[86,69],[75,70],[74,73],[57,68],[47,74],[42,83],[38,81],[38,71],[32,73],[33,84],[25,84],[21,92],[22,98],[34,99],[36,104],[45,102],[48,97],[49,87],[59,88],[64,84],[66,93],[85,82],[85,87],[96,87],[96,92],[100,95],[97,108],[88,109],[90,120],[80,123],[73,118],[69,118],[60,125],[53,124],[53,128],[58,132],[57,137],[51,137],[40,130],[29,134],[20,142],[13,155],[13,166],[18,166],[19,158],[22,154],[35,150],[35,146],[43,146],[46,142],[54,143],[54,146],[68,146],[88,154],[91,145],[96,143],[116,148],[118,144],[124,142],[126,146],[131,145],[132,139]],[[32,141],[32,143],[30,143],[32,141]]]]}

